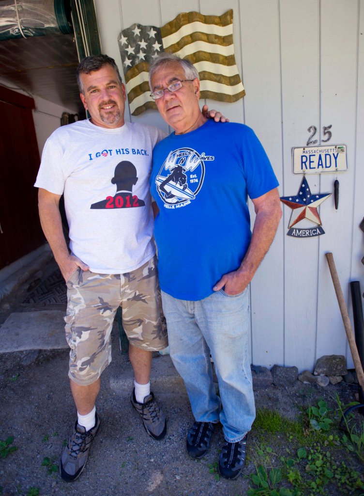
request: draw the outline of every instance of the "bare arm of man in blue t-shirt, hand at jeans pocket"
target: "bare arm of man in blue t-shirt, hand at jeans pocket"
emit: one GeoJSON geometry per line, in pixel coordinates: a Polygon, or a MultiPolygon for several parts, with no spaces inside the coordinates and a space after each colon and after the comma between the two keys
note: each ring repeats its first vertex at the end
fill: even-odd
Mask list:
{"type": "Polygon", "coordinates": [[[282,217],[278,188],[271,189],[258,198],[252,199],[252,202],[256,212],[256,220],[248,251],[238,270],[224,274],[213,287],[214,291],[219,291],[224,286],[224,291],[229,295],[237,295],[244,291],[253,279],[260,262],[274,239],[282,217]]]}

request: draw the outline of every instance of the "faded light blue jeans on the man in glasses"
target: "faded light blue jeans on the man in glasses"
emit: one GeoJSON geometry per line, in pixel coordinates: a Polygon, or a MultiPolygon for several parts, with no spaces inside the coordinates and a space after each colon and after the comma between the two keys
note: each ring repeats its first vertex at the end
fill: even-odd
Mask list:
{"type": "Polygon", "coordinates": [[[161,294],[169,353],[184,380],[195,420],[220,420],[225,439],[240,441],[255,419],[248,290],[236,296],[221,290],[197,302],[161,294]],[[221,401],[213,385],[210,354],[221,401]]]}

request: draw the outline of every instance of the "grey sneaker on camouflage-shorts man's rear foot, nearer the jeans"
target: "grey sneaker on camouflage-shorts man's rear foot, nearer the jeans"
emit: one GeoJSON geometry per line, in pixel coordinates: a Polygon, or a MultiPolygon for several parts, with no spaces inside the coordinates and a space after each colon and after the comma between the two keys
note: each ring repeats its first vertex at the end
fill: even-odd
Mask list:
{"type": "Polygon", "coordinates": [[[151,393],[144,398],[143,403],[138,403],[135,398],[135,388],[131,393],[131,404],[142,417],[143,425],[147,433],[159,441],[167,432],[167,422],[162,410],[158,407],[154,394],[151,393]]]}

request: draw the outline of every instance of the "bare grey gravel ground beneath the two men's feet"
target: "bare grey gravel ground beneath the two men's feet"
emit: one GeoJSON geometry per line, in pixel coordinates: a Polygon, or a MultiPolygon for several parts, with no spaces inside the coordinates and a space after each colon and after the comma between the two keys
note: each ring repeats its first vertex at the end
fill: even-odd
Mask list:
{"type": "MultiPolygon", "coordinates": [[[[74,483],[49,475],[44,457],[59,463],[63,442],[75,421],[75,409],[67,380],[67,351],[41,352],[29,365],[29,353],[0,357],[1,439],[13,435],[18,450],[0,460],[2,495],[26,495],[38,488],[40,495],[236,495],[246,486],[243,478],[216,482],[208,464],[217,458],[223,438],[218,430],[208,456],[195,461],[185,452],[185,435],[193,417],[183,386],[178,390],[153,387],[168,418],[161,441],[149,437],[133,410],[129,392],[117,393],[112,378],[130,363],[118,350],[103,374],[97,408],[101,418],[87,466],[74,483]]],[[[164,360],[160,357],[155,360],[164,360]]],[[[130,381],[130,389],[131,389],[130,381]]]]}

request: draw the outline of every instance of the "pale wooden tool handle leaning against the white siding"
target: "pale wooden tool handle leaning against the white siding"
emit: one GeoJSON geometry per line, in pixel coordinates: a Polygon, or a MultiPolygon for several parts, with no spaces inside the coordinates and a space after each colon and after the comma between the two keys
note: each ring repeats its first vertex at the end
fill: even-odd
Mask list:
{"type": "Polygon", "coordinates": [[[327,263],[329,264],[329,269],[331,273],[332,282],[334,284],[334,289],[336,293],[337,302],[339,304],[341,316],[344,322],[346,336],[348,338],[349,347],[351,351],[351,355],[353,357],[354,367],[357,372],[358,382],[364,390],[364,372],[363,367],[360,361],[357,344],[355,342],[353,328],[351,326],[348,310],[345,305],[344,295],[341,290],[339,276],[337,275],[334,256],[332,253],[326,253],[327,263]]]}

